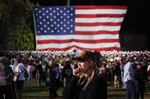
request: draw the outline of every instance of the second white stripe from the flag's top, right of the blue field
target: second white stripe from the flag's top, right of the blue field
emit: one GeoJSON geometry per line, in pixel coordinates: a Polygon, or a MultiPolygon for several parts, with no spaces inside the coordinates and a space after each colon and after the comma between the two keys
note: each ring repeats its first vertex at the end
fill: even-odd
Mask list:
{"type": "Polygon", "coordinates": [[[75,18],[75,23],[94,23],[94,22],[122,22],[123,17],[120,18],[75,18]]]}

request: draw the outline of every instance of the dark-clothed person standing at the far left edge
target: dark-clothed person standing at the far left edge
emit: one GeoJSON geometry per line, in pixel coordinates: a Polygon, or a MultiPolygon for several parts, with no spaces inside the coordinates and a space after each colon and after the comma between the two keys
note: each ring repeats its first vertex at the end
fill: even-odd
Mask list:
{"type": "Polygon", "coordinates": [[[8,59],[0,59],[0,99],[14,99],[12,97],[13,71],[9,66],[8,59]]]}

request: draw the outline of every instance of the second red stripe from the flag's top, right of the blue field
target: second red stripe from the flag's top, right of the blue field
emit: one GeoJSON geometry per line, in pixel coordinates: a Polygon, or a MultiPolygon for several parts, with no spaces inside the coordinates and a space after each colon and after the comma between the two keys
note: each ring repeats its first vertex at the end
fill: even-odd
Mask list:
{"type": "Polygon", "coordinates": [[[125,14],[76,14],[76,18],[124,17],[125,14]]]}

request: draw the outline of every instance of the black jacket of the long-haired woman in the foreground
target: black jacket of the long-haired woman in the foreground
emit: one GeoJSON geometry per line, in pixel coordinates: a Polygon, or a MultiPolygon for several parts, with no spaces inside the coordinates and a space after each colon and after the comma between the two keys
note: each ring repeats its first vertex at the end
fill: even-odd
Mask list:
{"type": "Polygon", "coordinates": [[[107,99],[107,83],[104,77],[94,75],[92,81],[83,90],[83,86],[77,84],[79,78],[74,77],[64,92],[64,99],[107,99]]]}

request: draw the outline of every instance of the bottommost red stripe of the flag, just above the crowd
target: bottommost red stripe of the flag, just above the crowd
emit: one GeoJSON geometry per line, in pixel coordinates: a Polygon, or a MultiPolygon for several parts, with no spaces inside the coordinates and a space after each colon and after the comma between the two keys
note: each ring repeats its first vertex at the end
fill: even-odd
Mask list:
{"type": "Polygon", "coordinates": [[[70,47],[66,47],[66,48],[44,48],[44,49],[37,49],[39,51],[46,51],[46,50],[50,50],[50,51],[66,51],[69,50],[71,48],[78,48],[81,50],[94,50],[94,51],[112,51],[112,50],[116,50],[116,51],[120,51],[121,49],[118,47],[109,47],[109,48],[82,48],[82,47],[78,47],[78,46],[70,46],[70,47]]]}

